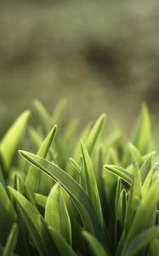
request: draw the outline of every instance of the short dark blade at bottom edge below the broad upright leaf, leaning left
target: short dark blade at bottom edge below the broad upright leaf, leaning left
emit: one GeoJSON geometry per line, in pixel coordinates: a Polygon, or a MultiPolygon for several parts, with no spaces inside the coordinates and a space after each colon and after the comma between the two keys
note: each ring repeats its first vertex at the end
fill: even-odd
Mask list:
{"type": "Polygon", "coordinates": [[[57,230],[54,230],[53,227],[48,227],[48,230],[61,256],[77,256],[77,253],[73,251],[68,242],[60,235],[59,232],[57,232],[57,230]]]}

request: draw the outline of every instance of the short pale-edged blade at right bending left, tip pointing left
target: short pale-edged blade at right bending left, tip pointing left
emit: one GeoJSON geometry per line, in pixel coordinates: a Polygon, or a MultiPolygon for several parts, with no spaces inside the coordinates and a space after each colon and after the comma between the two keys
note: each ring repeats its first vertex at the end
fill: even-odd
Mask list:
{"type": "Polygon", "coordinates": [[[105,165],[104,168],[105,170],[116,174],[116,176],[122,177],[124,181],[126,181],[128,184],[131,185],[133,180],[133,174],[131,172],[128,172],[126,169],[120,166],[114,166],[114,165],[105,165]]]}

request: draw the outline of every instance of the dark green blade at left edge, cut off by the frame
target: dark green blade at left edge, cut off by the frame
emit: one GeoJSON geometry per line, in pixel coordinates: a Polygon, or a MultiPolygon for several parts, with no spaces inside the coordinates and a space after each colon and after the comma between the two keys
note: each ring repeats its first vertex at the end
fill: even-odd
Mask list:
{"type": "Polygon", "coordinates": [[[16,221],[17,215],[14,207],[0,183],[0,243],[4,246],[9,236],[10,227],[16,221]]]}

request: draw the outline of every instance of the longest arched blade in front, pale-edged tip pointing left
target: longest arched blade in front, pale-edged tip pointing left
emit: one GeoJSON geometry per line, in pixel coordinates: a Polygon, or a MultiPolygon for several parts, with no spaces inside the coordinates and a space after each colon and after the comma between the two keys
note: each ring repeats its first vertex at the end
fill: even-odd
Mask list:
{"type": "Polygon", "coordinates": [[[94,211],[94,207],[89,201],[88,196],[78,185],[78,183],[66,172],[61,170],[59,166],[48,162],[48,160],[44,160],[35,154],[25,151],[20,151],[20,154],[32,165],[37,166],[42,170],[42,172],[45,172],[49,177],[53,178],[55,181],[59,182],[62,187],[64,187],[69,195],[71,195],[72,200],[75,202],[86,230],[92,234],[95,234],[95,236],[97,236],[99,241],[105,247],[105,235],[101,224],[99,223],[99,218],[94,211]]]}

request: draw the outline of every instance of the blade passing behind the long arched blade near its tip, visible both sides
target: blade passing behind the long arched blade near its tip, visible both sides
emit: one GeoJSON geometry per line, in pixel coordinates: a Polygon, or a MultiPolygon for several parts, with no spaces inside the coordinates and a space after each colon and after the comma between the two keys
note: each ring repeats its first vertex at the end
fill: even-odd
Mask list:
{"type": "MultiPolygon", "coordinates": [[[[43,144],[37,151],[37,155],[45,158],[48,154],[48,150],[54,141],[54,137],[57,131],[57,126],[48,133],[48,136],[43,141],[43,144]]],[[[32,193],[41,193],[47,195],[49,189],[52,186],[52,182],[43,172],[39,171],[35,166],[31,166],[28,175],[26,177],[26,186],[32,193]]]]}

